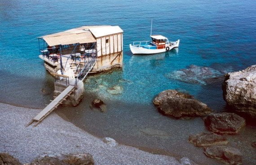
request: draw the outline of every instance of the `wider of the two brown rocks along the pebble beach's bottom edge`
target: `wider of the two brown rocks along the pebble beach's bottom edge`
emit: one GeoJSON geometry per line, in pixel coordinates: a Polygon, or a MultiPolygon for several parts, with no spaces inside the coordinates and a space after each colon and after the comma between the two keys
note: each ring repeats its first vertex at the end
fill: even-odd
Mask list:
{"type": "Polygon", "coordinates": [[[89,153],[48,155],[35,159],[30,165],[94,165],[94,160],[89,153]]]}

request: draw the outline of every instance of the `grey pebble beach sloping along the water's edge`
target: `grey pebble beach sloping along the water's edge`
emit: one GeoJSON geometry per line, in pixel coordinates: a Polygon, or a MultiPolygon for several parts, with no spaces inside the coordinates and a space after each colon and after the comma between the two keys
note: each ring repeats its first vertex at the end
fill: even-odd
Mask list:
{"type": "Polygon", "coordinates": [[[0,152],[8,152],[22,163],[36,157],[89,152],[95,164],[163,164],[181,165],[174,157],[156,155],[119,144],[116,147],[78,128],[53,112],[38,126],[27,123],[38,109],[0,103],[0,152]]]}

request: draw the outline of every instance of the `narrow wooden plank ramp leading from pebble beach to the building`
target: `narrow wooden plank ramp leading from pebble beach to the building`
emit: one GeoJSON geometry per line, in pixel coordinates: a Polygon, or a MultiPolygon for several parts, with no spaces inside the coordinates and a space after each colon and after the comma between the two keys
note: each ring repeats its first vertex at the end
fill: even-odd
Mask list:
{"type": "Polygon", "coordinates": [[[62,91],[50,104],[48,104],[38,115],[36,115],[31,122],[27,125],[31,125],[36,122],[34,126],[37,126],[45,117],[47,117],[54,109],[57,108],[62,101],[65,101],[68,96],[74,91],[75,86],[69,85],[64,91],[62,91]]]}

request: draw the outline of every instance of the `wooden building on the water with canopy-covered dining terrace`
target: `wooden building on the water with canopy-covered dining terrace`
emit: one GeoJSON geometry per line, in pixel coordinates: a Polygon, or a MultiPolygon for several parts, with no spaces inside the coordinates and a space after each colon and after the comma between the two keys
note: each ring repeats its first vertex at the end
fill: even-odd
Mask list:
{"type": "Polygon", "coordinates": [[[39,37],[39,57],[50,73],[84,79],[89,71],[123,66],[119,26],[82,26],[39,37]]]}

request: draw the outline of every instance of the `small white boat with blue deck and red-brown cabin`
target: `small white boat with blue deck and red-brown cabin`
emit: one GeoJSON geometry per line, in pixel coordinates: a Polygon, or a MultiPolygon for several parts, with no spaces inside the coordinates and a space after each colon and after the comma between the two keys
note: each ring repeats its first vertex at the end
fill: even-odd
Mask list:
{"type": "Polygon", "coordinates": [[[132,54],[155,54],[168,52],[173,48],[179,47],[180,40],[170,42],[163,35],[150,35],[152,41],[140,41],[130,44],[132,54]]]}

